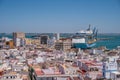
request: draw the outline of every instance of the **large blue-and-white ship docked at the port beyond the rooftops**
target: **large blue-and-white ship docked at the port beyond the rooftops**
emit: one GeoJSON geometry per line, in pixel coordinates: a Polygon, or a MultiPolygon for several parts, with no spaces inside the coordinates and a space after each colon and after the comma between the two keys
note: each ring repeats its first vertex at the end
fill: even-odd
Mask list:
{"type": "Polygon", "coordinates": [[[87,30],[81,30],[72,36],[72,47],[87,49],[92,48],[96,45],[98,30],[89,28],[87,30]]]}

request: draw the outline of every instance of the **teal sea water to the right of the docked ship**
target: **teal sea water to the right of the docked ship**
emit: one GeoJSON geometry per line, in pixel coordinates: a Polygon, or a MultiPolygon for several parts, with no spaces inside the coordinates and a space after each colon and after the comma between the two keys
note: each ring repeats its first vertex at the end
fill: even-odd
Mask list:
{"type": "Polygon", "coordinates": [[[99,40],[95,47],[106,46],[108,49],[115,49],[120,46],[120,34],[99,34],[98,38],[106,38],[106,40],[99,40]]]}

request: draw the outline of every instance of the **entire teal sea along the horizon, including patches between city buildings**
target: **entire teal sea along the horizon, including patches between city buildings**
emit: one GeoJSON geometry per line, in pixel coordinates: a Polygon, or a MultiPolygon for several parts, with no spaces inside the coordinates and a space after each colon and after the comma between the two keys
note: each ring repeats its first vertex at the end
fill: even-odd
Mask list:
{"type": "MultiPolygon", "coordinates": [[[[47,34],[50,38],[54,36],[54,33],[26,33],[26,38],[33,38],[33,36],[47,34]]],[[[74,33],[60,33],[61,38],[71,37],[74,33]]],[[[12,33],[0,33],[1,37],[12,38],[12,33]]],[[[96,42],[96,48],[105,46],[107,49],[115,49],[120,46],[120,33],[99,33],[98,41],[96,42]]]]}

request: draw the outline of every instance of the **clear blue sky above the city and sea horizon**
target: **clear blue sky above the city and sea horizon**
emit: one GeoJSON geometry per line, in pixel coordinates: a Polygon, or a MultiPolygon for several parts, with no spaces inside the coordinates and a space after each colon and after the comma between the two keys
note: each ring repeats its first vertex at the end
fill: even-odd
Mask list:
{"type": "Polygon", "coordinates": [[[0,0],[0,33],[120,33],[120,0],[0,0]]]}

